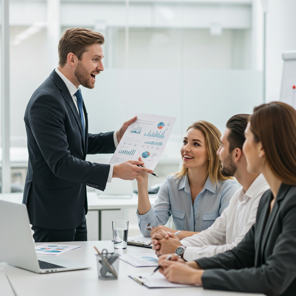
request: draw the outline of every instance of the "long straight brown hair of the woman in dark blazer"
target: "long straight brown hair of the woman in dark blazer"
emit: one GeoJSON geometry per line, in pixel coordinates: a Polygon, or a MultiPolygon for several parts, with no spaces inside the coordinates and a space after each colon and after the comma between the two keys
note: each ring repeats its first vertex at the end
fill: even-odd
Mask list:
{"type": "Polygon", "coordinates": [[[262,104],[249,121],[271,171],[283,183],[296,185],[296,110],[283,102],[262,104]]]}

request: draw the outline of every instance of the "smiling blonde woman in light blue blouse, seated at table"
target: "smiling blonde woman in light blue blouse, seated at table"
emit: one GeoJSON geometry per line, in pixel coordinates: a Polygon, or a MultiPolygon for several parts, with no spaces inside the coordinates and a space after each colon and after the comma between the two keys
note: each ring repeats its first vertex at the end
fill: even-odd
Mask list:
{"type": "Polygon", "coordinates": [[[148,173],[136,178],[137,215],[144,237],[162,230],[180,230],[179,239],[191,236],[210,227],[229,205],[239,186],[220,172],[221,161],[216,154],[220,137],[220,131],[207,121],[200,120],[189,126],[181,146],[182,168],[163,182],[152,208],[148,197],[148,173]],[[164,226],[170,215],[176,230],[164,226]],[[152,227],[151,232],[148,225],[152,227]]]}

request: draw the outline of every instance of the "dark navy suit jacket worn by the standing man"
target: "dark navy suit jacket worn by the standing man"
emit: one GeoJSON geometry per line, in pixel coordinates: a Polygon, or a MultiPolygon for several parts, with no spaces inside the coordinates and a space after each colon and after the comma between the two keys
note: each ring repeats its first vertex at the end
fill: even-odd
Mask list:
{"type": "Polygon", "coordinates": [[[23,203],[30,223],[74,229],[87,213],[86,185],[104,191],[110,165],[91,163],[86,154],[113,153],[113,132],[88,133],[67,86],[55,72],[36,89],[25,111],[28,172],[23,203]]]}

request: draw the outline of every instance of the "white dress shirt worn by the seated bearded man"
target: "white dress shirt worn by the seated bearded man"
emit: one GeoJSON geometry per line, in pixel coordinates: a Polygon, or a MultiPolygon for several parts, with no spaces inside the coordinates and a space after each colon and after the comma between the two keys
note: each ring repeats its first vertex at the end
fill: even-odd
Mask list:
{"type": "Polygon", "coordinates": [[[255,223],[260,198],[268,189],[269,185],[262,174],[247,192],[243,187],[239,188],[212,226],[181,240],[181,244],[186,246],[183,258],[190,261],[212,257],[236,247],[255,223]]]}

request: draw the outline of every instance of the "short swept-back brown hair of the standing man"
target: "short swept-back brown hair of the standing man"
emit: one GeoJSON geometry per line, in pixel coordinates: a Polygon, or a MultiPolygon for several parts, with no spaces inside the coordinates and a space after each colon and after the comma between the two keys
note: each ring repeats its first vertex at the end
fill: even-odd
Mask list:
{"type": "Polygon", "coordinates": [[[85,28],[68,29],[59,41],[59,65],[61,67],[66,65],[68,53],[73,52],[81,60],[82,54],[86,52],[86,46],[95,43],[104,44],[104,42],[105,38],[101,33],[85,28]]]}

